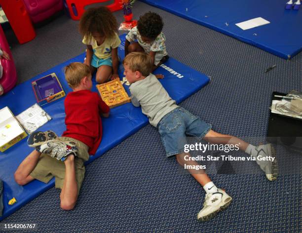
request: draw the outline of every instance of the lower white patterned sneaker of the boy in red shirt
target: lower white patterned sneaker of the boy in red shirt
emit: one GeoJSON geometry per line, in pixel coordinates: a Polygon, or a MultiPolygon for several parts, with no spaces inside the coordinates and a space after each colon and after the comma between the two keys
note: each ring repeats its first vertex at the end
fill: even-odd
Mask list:
{"type": "Polygon", "coordinates": [[[57,140],[50,140],[42,144],[37,150],[41,153],[55,157],[58,160],[64,161],[68,155],[76,156],[76,143],[73,141],[61,142],[57,140]]]}

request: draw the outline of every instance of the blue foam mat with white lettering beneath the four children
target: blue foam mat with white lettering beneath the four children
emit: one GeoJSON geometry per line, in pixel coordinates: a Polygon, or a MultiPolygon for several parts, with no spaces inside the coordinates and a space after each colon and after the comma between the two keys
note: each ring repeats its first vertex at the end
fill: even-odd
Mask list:
{"type": "MultiPolygon", "coordinates": [[[[124,57],[124,41],[125,35],[121,36],[122,44],[118,48],[118,55],[124,57]]],[[[14,115],[18,115],[27,108],[36,103],[35,95],[31,82],[50,73],[56,73],[65,93],[71,91],[64,78],[63,68],[71,62],[82,62],[84,55],[81,54],[67,62],[64,62],[35,78],[32,78],[20,85],[17,85],[10,92],[0,97],[0,109],[8,106],[14,115]]],[[[119,76],[123,77],[123,68],[120,64],[119,76]]],[[[166,88],[170,96],[180,103],[194,92],[205,86],[209,82],[209,78],[188,66],[170,58],[163,67],[159,67],[154,74],[163,74],[164,79],[161,83],[166,88]],[[173,69],[173,70],[172,70],[173,69]],[[177,73],[175,73],[177,72],[177,73]]],[[[94,87],[92,91],[96,91],[95,78],[93,79],[94,87]]],[[[129,87],[124,85],[129,94],[129,87]]],[[[42,108],[52,117],[52,120],[41,126],[38,130],[45,131],[52,129],[58,135],[61,135],[66,129],[64,99],[58,99],[52,103],[42,106],[42,108]]],[[[141,108],[134,107],[131,103],[127,103],[111,110],[109,118],[102,118],[103,122],[103,139],[96,155],[90,156],[86,163],[92,162],[94,159],[103,155],[105,152],[113,148],[115,145],[123,141],[125,138],[137,132],[143,126],[148,124],[148,118],[143,115],[141,108]]],[[[21,140],[4,153],[0,153],[0,179],[3,180],[3,215],[0,221],[23,205],[42,194],[46,190],[54,186],[54,179],[44,184],[38,180],[34,180],[25,186],[19,186],[14,181],[14,172],[16,171],[22,160],[32,152],[32,148],[27,146],[27,138],[21,140]],[[8,205],[8,201],[15,197],[17,202],[14,205],[8,205]]]]}

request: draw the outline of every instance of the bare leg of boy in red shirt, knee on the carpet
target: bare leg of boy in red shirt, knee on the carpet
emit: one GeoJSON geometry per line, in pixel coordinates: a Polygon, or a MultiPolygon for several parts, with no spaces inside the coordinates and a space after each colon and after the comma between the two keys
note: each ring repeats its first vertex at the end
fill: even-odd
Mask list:
{"type": "Polygon", "coordinates": [[[77,183],[75,170],[75,155],[68,155],[65,163],[65,179],[60,194],[61,208],[72,210],[76,206],[77,183]]]}

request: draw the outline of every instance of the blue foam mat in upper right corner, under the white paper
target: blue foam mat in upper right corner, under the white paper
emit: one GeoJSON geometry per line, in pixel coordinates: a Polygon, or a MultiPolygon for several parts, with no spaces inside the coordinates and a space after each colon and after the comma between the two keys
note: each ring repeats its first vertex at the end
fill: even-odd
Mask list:
{"type": "Polygon", "coordinates": [[[286,0],[141,0],[194,23],[242,40],[284,59],[302,51],[302,7],[286,0]],[[262,17],[270,23],[249,30],[235,24],[262,17]]]}

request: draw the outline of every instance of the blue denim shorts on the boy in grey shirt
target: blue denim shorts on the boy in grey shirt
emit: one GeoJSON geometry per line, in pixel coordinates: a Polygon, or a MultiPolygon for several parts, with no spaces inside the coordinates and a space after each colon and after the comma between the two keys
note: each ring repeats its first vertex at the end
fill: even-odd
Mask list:
{"type": "Polygon", "coordinates": [[[172,110],[157,124],[167,157],[184,152],[184,147],[188,144],[186,135],[202,139],[211,128],[211,124],[192,115],[182,107],[172,110]]]}

